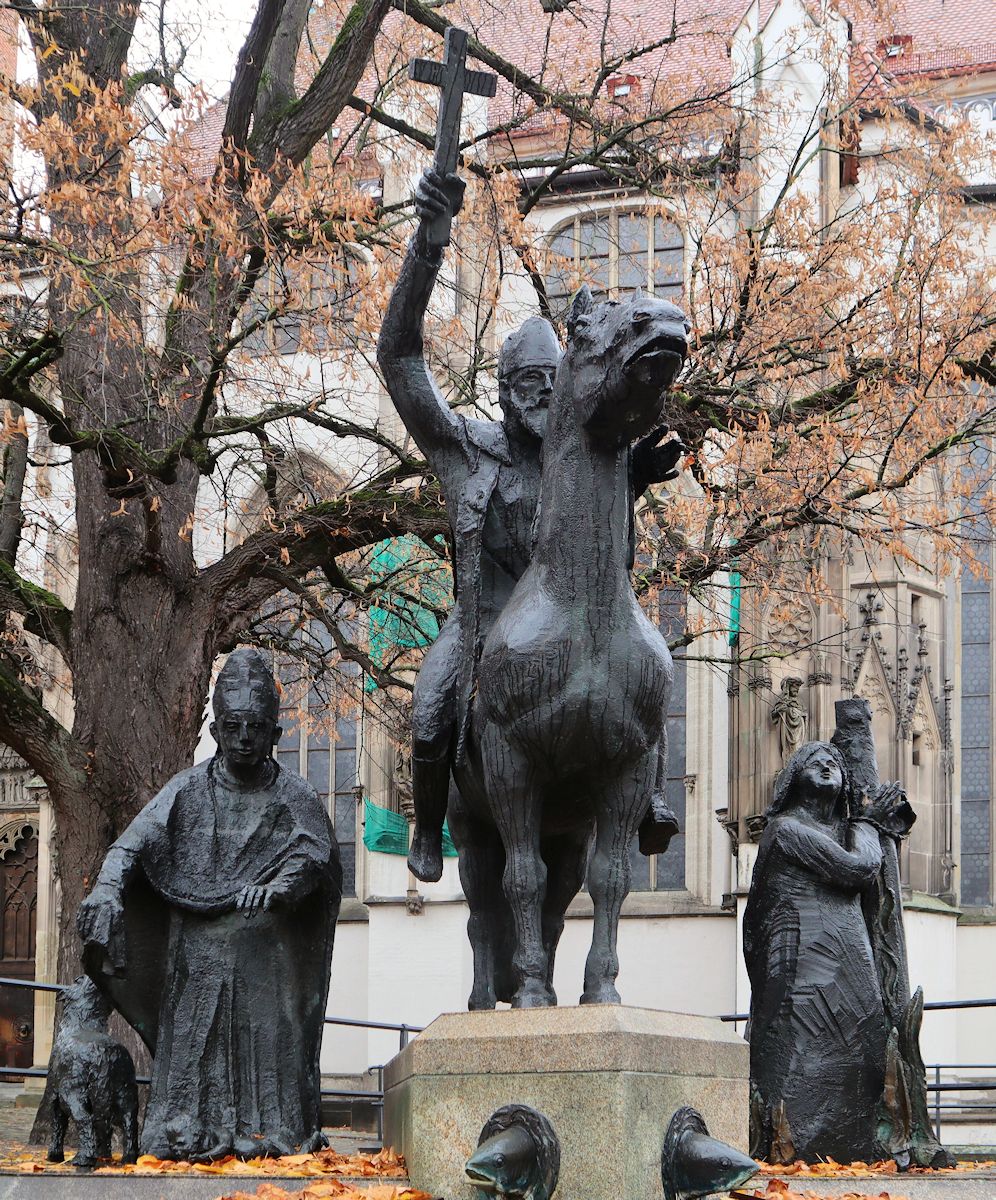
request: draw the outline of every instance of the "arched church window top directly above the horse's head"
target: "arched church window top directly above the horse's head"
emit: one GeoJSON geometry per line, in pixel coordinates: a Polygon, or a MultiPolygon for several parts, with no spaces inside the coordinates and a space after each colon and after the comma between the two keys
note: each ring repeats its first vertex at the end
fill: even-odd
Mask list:
{"type": "Polygon", "coordinates": [[[684,288],[684,245],[679,227],[659,212],[578,214],[550,239],[551,308],[563,313],[582,283],[595,298],[617,299],[643,288],[677,304],[684,288]]]}

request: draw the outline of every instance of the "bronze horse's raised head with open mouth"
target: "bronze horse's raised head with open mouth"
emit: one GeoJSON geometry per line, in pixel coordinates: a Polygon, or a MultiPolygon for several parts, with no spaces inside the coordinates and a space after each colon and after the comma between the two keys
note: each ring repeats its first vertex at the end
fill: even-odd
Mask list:
{"type": "Polygon", "coordinates": [[[676,305],[636,292],[595,304],[587,286],[568,316],[564,365],[578,420],[624,445],[660,424],[664,396],[688,354],[691,326],[676,305]]]}

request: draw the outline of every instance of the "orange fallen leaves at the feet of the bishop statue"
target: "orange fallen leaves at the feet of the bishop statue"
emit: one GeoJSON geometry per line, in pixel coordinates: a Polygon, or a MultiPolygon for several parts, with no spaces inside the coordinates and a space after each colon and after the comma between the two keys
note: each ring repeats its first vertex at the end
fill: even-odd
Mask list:
{"type": "MultiPolygon", "coordinates": [[[[115,1157],[120,1159],[120,1156],[115,1157]]],[[[37,1152],[30,1151],[0,1157],[0,1170],[23,1171],[28,1175],[41,1172],[78,1174],[71,1162],[48,1163],[44,1157],[38,1157],[37,1152]]],[[[392,1150],[382,1150],[377,1154],[340,1154],[335,1150],[319,1150],[316,1154],[286,1154],[283,1158],[251,1158],[246,1162],[228,1156],[220,1158],[216,1163],[173,1162],[172,1159],[155,1158],[152,1154],[139,1154],[137,1163],[116,1160],[106,1166],[98,1166],[94,1175],[280,1175],[288,1178],[322,1178],[323,1184],[348,1188],[347,1184],[340,1184],[338,1180],[330,1180],[328,1176],[398,1180],[404,1178],[407,1169],[402,1156],[392,1150]]],[[[362,1195],[374,1196],[374,1200],[395,1200],[395,1196],[420,1200],[419,1193],[398,1192],[395,1184],[374,1190],[383,1194],[374,1195],[374,1192],[367,1188],[362,1195]]],[[[280,1188],[274,1193],[272,1200],[283,1200],[283,1193],[280,1195],[277,1193],[280,1193],[280,1188]]],[[[311,1196],[353,1196],[354,1194],[359,1195],[355,1189],[307,1193],[308,1200],[311,1196]]]]}

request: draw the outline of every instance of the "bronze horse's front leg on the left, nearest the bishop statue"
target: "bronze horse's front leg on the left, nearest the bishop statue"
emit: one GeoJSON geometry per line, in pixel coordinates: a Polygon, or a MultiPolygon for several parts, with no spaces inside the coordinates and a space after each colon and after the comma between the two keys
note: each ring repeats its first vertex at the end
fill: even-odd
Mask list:
{"type": "Polygon", "coordinates": [[[542,940],[546,865],[540,856],[541,793],[526,757],[496,726],[486,730],[481,750],[487,803],[505,847],[502,883],[515,925],[512,967],[518,986],[512,1008],[545,1008],[557,1000],[547,983],[542,940]]]}

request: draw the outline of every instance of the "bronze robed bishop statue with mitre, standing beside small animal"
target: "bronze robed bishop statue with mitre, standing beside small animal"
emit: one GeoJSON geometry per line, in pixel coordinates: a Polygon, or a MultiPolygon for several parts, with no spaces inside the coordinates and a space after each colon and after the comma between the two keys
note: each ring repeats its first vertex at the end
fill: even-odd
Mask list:
{"type": "Polygon", "coordinates": [[[272,757],[272,674],[233,652],[215,757],[110,847],[78,926],[89,974],[154,1055],[144,1153],[211,1160],[325,1145],[318,1054],[342,868],[314,790],[272,757]]]}

